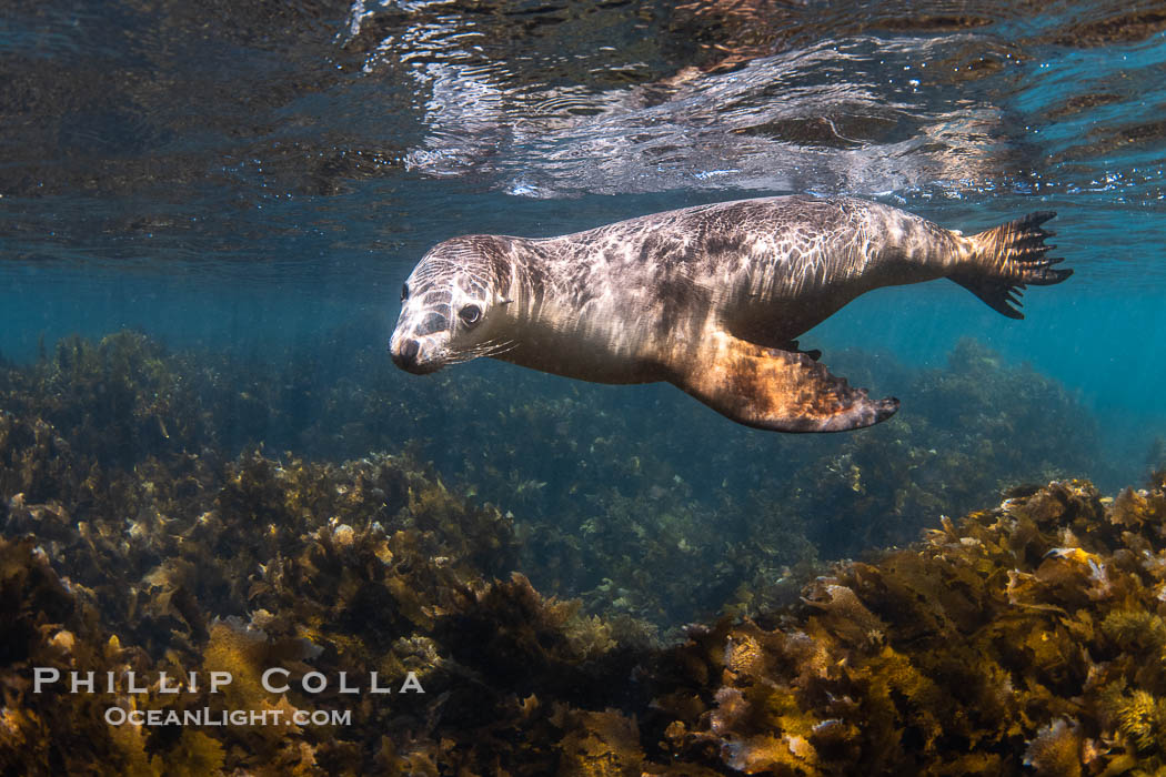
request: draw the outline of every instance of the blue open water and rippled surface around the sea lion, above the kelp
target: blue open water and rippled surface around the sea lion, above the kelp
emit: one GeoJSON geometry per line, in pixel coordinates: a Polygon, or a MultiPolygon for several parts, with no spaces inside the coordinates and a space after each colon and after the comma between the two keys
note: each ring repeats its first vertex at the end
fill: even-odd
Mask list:
{"type": "MultiPolygon", "coordinates": [[[[964,232],[1056,210],[1076,274],[1030,290],[1024,322],[944,282],[870,294],[802,338],[826,363],[937,367],[972,334],[1080,397],[1111,487],[1166,436],[1166,23],[1122,3],[9,5],[9,360],[134,327],[260,359],[294,346],[326,384],[336,333],[382,348],[442,239],[845,193],[964,232]]],[[[876,393],[909,419],[909,396],[876,393]]]]}

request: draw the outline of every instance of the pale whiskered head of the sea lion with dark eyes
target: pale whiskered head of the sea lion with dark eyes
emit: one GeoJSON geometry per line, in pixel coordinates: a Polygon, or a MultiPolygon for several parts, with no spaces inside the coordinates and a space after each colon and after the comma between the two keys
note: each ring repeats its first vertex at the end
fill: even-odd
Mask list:
{"type": "Polygon", "coordinates": [[[401,316],[388,342],[393,362],[423,375],[499,353],[505,308],[501,255],[492,235],[455,238],[427,253],[401,288],[401,316]]]}

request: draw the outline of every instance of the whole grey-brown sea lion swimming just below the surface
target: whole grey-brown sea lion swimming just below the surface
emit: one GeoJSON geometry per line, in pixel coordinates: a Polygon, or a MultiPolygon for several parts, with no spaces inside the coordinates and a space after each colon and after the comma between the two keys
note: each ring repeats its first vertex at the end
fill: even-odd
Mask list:
{"type": "Polygon", "coordinates": [[[786,432],[870,426],[871,400],[799,351],[861,294],[950,278],[1010,318],[1026,284],[1072,270],[1032,213],[964,236],[861,199],[767,197],[561,238],[469,235],[427,253],[389,341],[410,373],[493,356],[600,383],[668,381],[733,421],[786,432]]]}

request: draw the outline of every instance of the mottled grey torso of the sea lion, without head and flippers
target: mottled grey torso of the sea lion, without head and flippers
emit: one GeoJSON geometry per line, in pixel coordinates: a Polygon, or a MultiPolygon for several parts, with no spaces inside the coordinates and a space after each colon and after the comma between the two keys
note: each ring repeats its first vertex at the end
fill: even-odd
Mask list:
{"type": "Polygon", "coordinates": [[[508,262],[538,262],[541,277],[507,289],[524,338],[498,358],[618,383],[667,380],[667,366],[721,327],[781,347],[865,291],[942,277],[962,249],[954,233],[904,211],[807,197],[500,240],[508,262]]]}

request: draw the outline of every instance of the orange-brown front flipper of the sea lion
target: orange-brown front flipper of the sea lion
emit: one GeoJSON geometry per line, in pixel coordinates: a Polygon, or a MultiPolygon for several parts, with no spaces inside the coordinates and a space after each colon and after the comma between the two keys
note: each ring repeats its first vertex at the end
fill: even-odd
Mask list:
{"type": "Polygon", "coordinates": [[[866,389],[803,353],[764,348],[717,332],[672,382],[733,421],[781,432],[841,432],[886,421],[895,398],[871,400],[866,389]]]}

